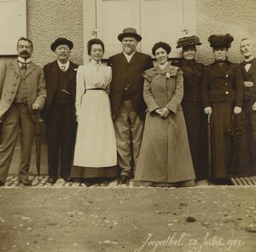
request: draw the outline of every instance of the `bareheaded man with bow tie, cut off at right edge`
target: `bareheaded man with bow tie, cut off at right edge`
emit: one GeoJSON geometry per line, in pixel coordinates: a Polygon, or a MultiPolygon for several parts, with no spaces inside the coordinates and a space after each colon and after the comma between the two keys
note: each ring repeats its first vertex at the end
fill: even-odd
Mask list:
{"type": "Polygon", "coordinates": [[[253,41],[249,38],[241,40],[241,73],[245,84],[243,108],[246,117],[247,143],[251,167],[256,171],[256,59],[253,56],[253,41]]]}

